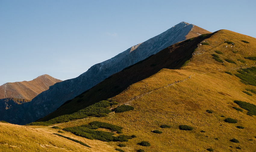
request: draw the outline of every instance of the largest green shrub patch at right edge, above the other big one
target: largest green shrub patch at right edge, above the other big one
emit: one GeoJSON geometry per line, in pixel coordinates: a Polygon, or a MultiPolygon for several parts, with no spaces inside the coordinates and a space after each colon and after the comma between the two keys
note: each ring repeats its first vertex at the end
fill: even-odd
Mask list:
{"type": "Polygon", "coordinates": [[[245,84],[256,86],[256,67],[243,68],[238,70],[239,74],[234,74],[242,80],[245,84]]]}

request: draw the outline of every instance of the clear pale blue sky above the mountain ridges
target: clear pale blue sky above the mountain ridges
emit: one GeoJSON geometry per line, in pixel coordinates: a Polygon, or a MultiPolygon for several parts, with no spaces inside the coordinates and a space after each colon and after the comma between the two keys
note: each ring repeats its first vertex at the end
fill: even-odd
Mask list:
{"type": "Polygon", "coordinates": [[[184,21],[256,37],[256,1],[0,0],[0,85],[67,80],[184,21]]]}

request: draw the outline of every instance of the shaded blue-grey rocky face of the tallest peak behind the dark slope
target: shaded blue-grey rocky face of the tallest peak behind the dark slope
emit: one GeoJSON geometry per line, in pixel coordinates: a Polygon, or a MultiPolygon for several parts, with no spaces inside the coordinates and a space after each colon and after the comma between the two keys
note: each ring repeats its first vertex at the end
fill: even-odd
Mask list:
{"type": "MultiPolygon", "coordinates": [[[[158,53],[172,44],[184,41],[186,39],[185,36],[193,26],[194,25],[192,24],[181,22],[160,35],[137,44],[111,59],[93,65],[88,71],[77,78],[54,84],[48,90],[32,99],[31,102],[22,104],[21,106],[28,108],[26,111],[21,112],[23,114],[15,116],[16,118],[19,117],[19,119],[12,119],[11,122],[5,119],[5,121],[16,124],[26,124],[50,114],[67,100],[73,99],[75,96],[92,88],[110,75],[115,74],[123,68],[133,65],[148,56],[158,53]]],[[[12,108],[12,110],[15,115],[15,109],[12,108]]],[[[11,114],[11,112],[8,113],[11,114]]]]}

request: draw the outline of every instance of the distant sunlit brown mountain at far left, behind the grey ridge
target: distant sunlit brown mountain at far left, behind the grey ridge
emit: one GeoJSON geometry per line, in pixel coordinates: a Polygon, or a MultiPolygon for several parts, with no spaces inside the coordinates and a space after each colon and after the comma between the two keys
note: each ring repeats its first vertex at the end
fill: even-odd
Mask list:
{"type": "Polygon", "coordinates": [[[6,83],[0,86],[0,99],[18,98],[32,100],[39,93],[48,90],[53,84],[61,82],[47,74],[31,81],[6,83]]]}

